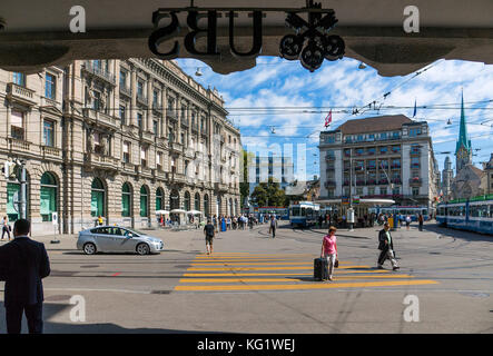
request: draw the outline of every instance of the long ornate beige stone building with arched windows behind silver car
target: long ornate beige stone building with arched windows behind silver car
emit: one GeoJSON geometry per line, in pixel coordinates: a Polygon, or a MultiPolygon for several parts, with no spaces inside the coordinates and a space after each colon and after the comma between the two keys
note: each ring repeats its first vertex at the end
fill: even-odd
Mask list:
{"type": "MultiPolygon", "coordinates": [[[[75,61],[0,71],[0,162],[26,161],[33,234],[156,225],[156,210],[239,214],[239,130],[217,90],[172,61],[75,61]]],[[[0,178],[0,214],[18,218],[17,179],[0,178]]],[[[185,215],[178,215],[185,219],[185,215]]]]}

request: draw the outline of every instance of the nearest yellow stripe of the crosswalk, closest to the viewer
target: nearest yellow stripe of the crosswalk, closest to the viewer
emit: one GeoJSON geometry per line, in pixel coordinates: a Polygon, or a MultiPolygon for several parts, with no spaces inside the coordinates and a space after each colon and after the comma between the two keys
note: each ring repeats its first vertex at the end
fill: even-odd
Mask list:
{"type": "Polygon", "coordinates": [[[175,290],[189,291],[231,291],[231,290],[300,290],[300,289],[332,289],[332,288],[365,288],[365,287],[395,287],[395,286],[417,286],[435,285],[436,280],[381,280],[381,281],[361,281],[361,283],[317,283],[317,284],[296,284],[296,285],[235,285],[235,286],[181,286],[175,287],[175,290]]]}

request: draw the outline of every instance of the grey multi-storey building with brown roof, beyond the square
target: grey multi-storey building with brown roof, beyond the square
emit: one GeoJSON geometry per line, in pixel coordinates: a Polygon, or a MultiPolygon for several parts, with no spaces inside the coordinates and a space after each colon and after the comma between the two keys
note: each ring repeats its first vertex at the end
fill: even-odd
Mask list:
{"type": "Polygon", "coordinates": [[[321,199],[393,199],[432,207],[440,171],[425,121],[403,115],[348,120],[321,132],[321,199]]]}

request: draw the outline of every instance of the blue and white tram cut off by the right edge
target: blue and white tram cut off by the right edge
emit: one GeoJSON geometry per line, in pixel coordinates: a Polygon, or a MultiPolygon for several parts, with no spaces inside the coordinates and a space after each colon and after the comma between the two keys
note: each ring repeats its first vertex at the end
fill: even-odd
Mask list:
{"type": "Polygon", "coordinates": [[[493,196],[438,204],[436,220],[446,227],[493,235],[493,196]]]}

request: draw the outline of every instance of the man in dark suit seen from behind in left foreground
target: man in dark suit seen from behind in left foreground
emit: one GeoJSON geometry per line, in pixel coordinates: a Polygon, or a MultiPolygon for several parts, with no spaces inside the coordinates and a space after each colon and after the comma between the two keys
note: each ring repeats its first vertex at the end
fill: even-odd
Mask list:
{"type": "Polygon", "coordinates": [[[19,219],[13,225],[13,241],[0,247],[0,280],[6,281],[7,333],[20,334],[26,313],[30,334],[42,334],[43,290],[41,279],[50,274],[45,245],[31,240],[31,224],[19,219]]]}

